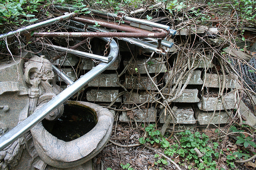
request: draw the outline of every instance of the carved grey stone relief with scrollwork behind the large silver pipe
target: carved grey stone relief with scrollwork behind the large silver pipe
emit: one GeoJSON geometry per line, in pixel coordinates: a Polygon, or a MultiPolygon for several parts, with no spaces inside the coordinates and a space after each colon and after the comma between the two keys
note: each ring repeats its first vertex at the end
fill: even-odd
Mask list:
{"type": "MultiPolygon", "coordinates": [[[[54,83],[54,73],[52,65],[49,60],[43,57],[32,57],[24,64],[24,81],[26,83],[20,84],[20,81],[1,81],[0,95],[13,92],[18,92],[18,95],[26,94],[27,104],[19,113],[13,113],[17,117],[18,122],[22,122],[34,111],[45,105],[54,96],[60,92],[60,87],[54,83]],[[25,88],[27,86],[27,89],[25,88]]],[[[19,71],[19,74],[22,71],[19,71]]],[[[1,79],[0,79],[1,80],[1,79]]],[[[8,96],[7,96],[8,97],[8,96]]],[[[16,96],[18,97],[18,96],[16,96]]],[[[4,98],[4,97],[3,97],[4,98]]],[[[48,117],[48,120],[55,120],[63,113],[63,105],[53,111],[48,117]]],[[[0,103],[0,110],[8,113],[12,110],[8,105],[0,103]]],[[[6,115],[0,115],[1,117],[6,115]]],[[[1,118],[0,117],[0,118],[1,118]]],[[[0,136],[8,132],[9,127],[4,120],[0,119],[0,136]]],[[[34,149],[33,136],[30,132],[26,133],[22,138],[19,138],[10,144],[3,151],[0,151],[0,169],[10,169],[17,165],[23,149],[26,147],[31,156],[30,169],[45,169],[46,163],[41,161],[34,149]],[[26,144],[25,144],[26,143],[26,144]]]]}

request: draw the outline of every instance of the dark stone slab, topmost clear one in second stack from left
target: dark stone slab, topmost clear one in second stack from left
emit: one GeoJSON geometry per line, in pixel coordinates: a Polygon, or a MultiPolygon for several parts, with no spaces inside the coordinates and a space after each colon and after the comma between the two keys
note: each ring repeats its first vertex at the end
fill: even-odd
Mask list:
{"type": "MultiPolygon", "coordinates": [[[[133,62],[130,64],[130,66],[127,68],[131,72],[131,74],[146,74],[144,62],[147,59],[138,59],[136,60],[136,63],[133,62]]],[[[128,61],[123,61],[124,66],[128,64],[128,61]]],[[[166,66],[165,62],[163,61],[163,58],[152,58],[151,61],[148,61],[146,63],[147,71],[148,73],[156,73],[156,72],[165,72],[166,66]]]]}

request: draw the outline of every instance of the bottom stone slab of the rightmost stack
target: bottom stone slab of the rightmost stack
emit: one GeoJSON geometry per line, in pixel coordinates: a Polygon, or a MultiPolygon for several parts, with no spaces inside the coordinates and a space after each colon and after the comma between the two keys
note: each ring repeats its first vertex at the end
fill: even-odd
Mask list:
{"type": "MultiPolygon", "coordinates": [[[[202,111],[196,109],[196,119],[198,119],[199,125],[208,125],[210,122],[211,116],[214,114],[214,111],[202,111]]],[[[232,112],[228,112],[232,114],[232,112]]],[[[229,116],[225,111],[216,111],[214,117],[212,118],[210,124],[226,124],[228,122],[229,116]]]]}

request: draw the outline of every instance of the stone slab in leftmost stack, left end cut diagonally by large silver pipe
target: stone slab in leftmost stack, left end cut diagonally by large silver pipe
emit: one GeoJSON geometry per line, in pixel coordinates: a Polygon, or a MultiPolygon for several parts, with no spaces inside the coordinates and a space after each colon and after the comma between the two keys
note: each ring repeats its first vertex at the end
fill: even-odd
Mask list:
{"type": "Polygon", "coordinates": [[[116,84],[118,78],[117,74],[100,74],[98,77],[93,79],[88,86],[89,87],[119,87],[116,84]]]}

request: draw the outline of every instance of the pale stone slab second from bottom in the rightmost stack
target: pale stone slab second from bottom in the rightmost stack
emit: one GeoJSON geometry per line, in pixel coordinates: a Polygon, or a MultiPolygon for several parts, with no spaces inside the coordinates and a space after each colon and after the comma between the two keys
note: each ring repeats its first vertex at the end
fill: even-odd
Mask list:
{"type": "Polygon", "coordinates": [[[217,99],[217,97],[207,97],[207,96],[203,96],[201,102],[198,103],[199,109],[204,111],[224,110],[223,105],[225,106],[226,109],[237,108],[233,93],[228,93],[227,95],[224,95],[223,103],[222,103],[222,100],[217,99]]]}

